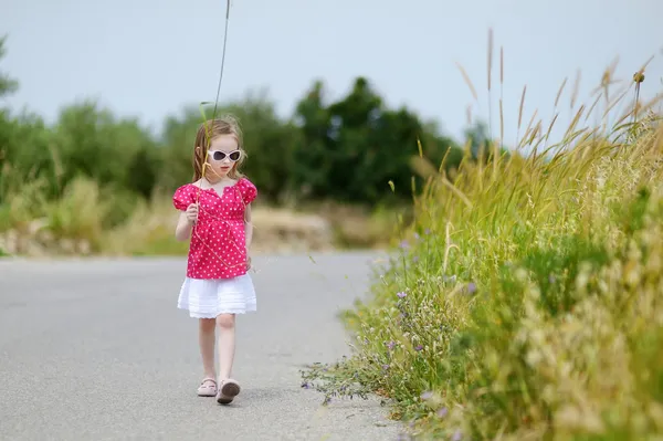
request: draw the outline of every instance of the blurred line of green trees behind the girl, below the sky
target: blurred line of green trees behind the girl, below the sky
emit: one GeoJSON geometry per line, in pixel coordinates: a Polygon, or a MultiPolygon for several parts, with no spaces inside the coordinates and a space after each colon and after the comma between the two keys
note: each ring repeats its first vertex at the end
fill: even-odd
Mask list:
{"type": "MultiPolygon", "coordinates": [[[[17,80],[0,75],[0,97],[18,87],[17,80]]],[[[206,112],[211,115],[211,108],[206,112]]],[[[446,155],[446,169],[456,168],[463,157],[462,147],[434,124],[406,107],[389,108],[364,77],[336,101],[326,99],[324,84],[315,82],[290,118],[278,117],[274,104],[261,95],[248,95],[218,112],[239,117],[249,154],[244,172],[261,197],[275,203],[334,199],[375,204],[409,198],[418,141],[433,164],[446,155]]],[[[138,120],[118,117],[94,101],[64,106],[51,125],[36,114],[2,108],[0,203],[34,179],[43,182],[45,198],[56,198],[80,176],[95,180],[108,195],[150,198],[170,192],[192,178],[191,143],[201,122],[199,106],[191,105],[167,117],[155,136],[138,120]]]]}

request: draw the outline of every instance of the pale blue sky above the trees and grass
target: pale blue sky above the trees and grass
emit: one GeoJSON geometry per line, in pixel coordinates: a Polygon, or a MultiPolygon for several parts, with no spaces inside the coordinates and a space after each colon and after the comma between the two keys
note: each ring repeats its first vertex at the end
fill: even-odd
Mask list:
{"type": "MultiPolygon", "coordinates": [[[[183,105],[215,96],[224,0],[0,0],[0,33],[9,34],[0,69],[20,81],[6,99],[53,120],[57,111],[96,97],[119,115],[159,129],[183,105]]],[[[661,0],[233,0],[221,99],[266,88],[281,115],[316,78],[329,98],[368,77],[391,106],[408,105],[460,138],[466,107],[487,118],[487,30],[494,29],[494,124],[498,53],[504,46],[506,140],[516,135],[527,84],[526,125],[545,125],[565,77],[559,124],[581,71],[579,99],[619,56],[628,81],[650,56],[643,96],[663,91],[661,0]],[[474,82],[474,103],[455,63],[474,82]]],[[[560,126],[560,128],[561,128],[560,126]]]]}

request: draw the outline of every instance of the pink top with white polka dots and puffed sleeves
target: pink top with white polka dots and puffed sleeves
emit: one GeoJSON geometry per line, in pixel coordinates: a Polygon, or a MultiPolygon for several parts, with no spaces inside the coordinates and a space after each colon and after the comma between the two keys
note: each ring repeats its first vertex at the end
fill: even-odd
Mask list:
{"type": "Polygon", "coordinates": [[[180,211],[186,211],[199,198],[198,221],[191,231],[187,277],[231,279],[246,273],[244,210],[256,196],[257,189],[246,178],[225,187],[222,195],[211,188],[200,189],[193,183],[175,191],[172,203],[180,211]]]}

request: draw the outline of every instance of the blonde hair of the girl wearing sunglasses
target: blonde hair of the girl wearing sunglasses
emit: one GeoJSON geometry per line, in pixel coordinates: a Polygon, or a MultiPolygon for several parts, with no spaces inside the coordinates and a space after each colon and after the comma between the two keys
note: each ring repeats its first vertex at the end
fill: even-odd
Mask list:
{"type": "Polygon", "coordinates": [[[241,179],[244,176],[240,172],[240,167],[246,158],[246,151],[244,151],[242,143],[242,129],[234,116],[224,115],[215,119],[208,119],[198,127],[196,144],[193,145],[193,181],[202,178],[207,151],[210,148],[212,139],[221,135],[232,135],[238,141],[238,148],[242,151],[240,160],[234,162],[232,169],[228,172],[228,177],[231,179],[241,179]]]}

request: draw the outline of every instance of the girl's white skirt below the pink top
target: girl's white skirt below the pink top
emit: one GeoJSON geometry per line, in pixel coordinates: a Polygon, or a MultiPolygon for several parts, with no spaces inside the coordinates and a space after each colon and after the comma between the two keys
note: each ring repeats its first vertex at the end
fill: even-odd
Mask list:
{"type": "Polygon", "coordinates": [[[177,307],[193,318],[215,318],[219,314],[256,311],[255,288],[249,274],[233,279],[185,279],[177,307]]]}

